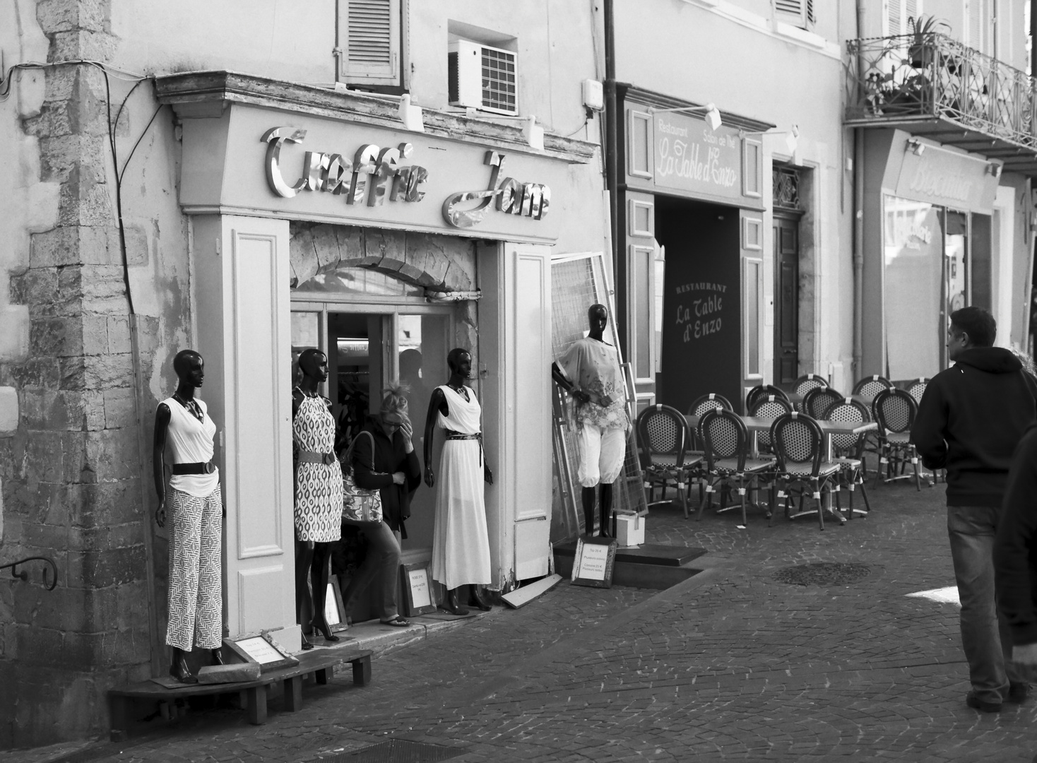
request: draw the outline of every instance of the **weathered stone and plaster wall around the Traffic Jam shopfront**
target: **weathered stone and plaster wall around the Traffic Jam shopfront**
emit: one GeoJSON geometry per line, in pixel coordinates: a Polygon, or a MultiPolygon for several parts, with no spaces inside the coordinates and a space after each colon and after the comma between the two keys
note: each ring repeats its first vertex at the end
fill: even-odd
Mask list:
{"type": "MultiPolygon", "coordinates": [[[[139,75],[225,68],[330,86],[334,19],[333,0],[305,10],[185,0],[146,12],[132,0],[0,4],[6,65],[111,67],[107,80],[87,64],[29,69],[0,101],[0,141],[15,158],[0,175],[0,560],[39,554],[58,566],[52,592],[0,584],[0,748],[105,728],[105,690],[167,659],[152,412],[175,386],[172,357],[205,327],[193,309],[193,228],[177,199],[180,125],[139,75]]],[[[514,36],[521,114],[596,139],[580,89],[599,76],[589,5],[436,0],[411,3],[409,20],[415,104],[447,108],[452,21],[514,36]]],[[[571,165],[567,178],[576,199],[556,251],[604,250],[600,163],[571,165]]]]}

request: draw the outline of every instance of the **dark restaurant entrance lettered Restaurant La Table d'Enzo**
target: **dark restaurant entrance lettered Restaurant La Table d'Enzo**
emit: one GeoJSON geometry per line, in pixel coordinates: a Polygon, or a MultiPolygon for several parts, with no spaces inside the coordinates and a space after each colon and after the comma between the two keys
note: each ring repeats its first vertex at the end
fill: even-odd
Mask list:
{"type": "Polygon", "coordinates": [[[656,399],[681,413],[709,392],[741,400],[738,210],[655,197],[666,247],[663,362],[656,399]]]}

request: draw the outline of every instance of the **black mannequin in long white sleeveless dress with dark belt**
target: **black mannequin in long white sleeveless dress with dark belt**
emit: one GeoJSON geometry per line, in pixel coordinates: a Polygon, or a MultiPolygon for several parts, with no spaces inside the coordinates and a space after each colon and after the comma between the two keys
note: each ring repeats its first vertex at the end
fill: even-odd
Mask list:
{"type": "Polygon", "coordinates": [[[482,481],[494,484],[494,474],[482,450],[479,401],[475,391],[465,384],[472,377],[472,356],[460,347],[451,349],[447,365],[450,379],[432,391],[425,419],[425,484],[429,487],[436,486],[432,437],[437,425],[446,434],[436,492],[431,570],[432,580],[447,588],[445,609],[454,615],[467,615],[468,610],[458,600],[460,586],[469,586],[475,606],[491,609],[478,586],[492,582],[482,481]]]}

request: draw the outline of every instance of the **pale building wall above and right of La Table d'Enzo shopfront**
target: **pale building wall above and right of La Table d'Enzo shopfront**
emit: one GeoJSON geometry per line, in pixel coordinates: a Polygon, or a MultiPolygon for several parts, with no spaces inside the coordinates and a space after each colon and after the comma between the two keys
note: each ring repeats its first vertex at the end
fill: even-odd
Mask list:
{"type": "MultiPolygon", "coordinates": [[[[764,205],[769,209],[772,204],[774,161],[795,161],[811,175],[810,206],[801,223],[801,303],[809,302],[801,305],[800,368],[822,375],[834,370],[834,384],[841,389],[852,384],[852,176],[844,171],[852,135],[842,128],[837,93],[844,86],[840,33],[852,34],[853,5],[815,2],[814,7],[816,23],[805,31],[776,19],[769,2],[620,0],[616,77],[777,125],[776,135],[763,142],[764,205]],[[785,135],[778,134],[793,124],[800,130],[794,157],[788,154],[785,135]]],[[[772,226],[767,211],[762,363],[767,380],[774,363],[772,226]]]]}

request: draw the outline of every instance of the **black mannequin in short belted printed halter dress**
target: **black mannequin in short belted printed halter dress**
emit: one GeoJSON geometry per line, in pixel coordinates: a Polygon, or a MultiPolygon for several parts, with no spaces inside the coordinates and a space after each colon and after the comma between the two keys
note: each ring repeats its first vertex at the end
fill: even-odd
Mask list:
{"type": "Polygon", "coordinates": [[[328,379],[328,356],[304,349],[299,356],[302,381],[291,393],[292,442],[296,463],[296,619],[306,635],[319,631],[336,642],[325,617],[328,562],[332,544],[342,533],[342,471],[335,455],[336,423],[331,401],[317,385],[328,379]],[[312,584],[312,592],[311,585],[312,584]],[[309,616],[309,625],[304,619],[309,616]]]}

